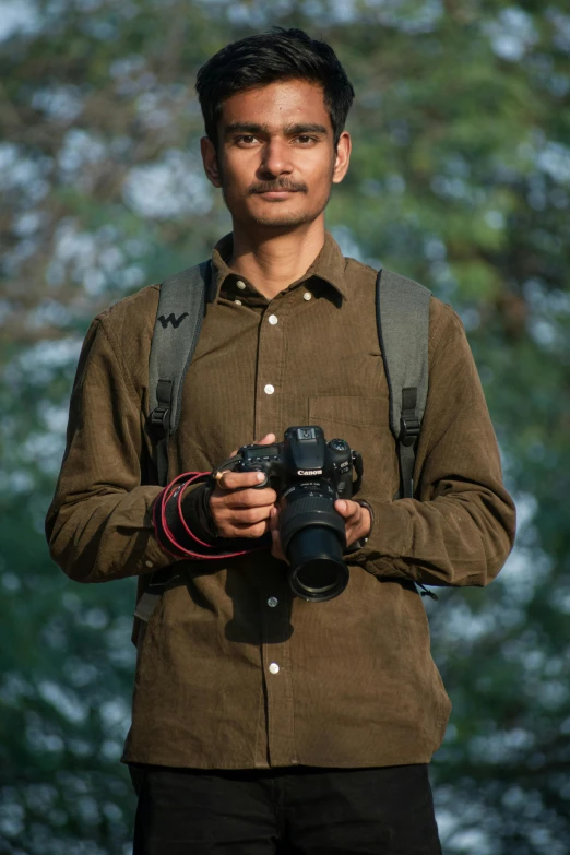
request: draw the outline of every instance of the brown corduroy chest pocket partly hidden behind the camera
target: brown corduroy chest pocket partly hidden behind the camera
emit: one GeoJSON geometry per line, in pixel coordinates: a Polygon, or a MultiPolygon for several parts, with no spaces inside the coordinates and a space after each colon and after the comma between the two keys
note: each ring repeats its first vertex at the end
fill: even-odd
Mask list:
{"type": "Polygon", "coordinates": [[[389,425],[388,397],[316,395],[309,397],[308,425],[324,430],[326,441],[344,439],[363,455],[360,496],[392,499],[399,487],[397,455],[389,425]]]}

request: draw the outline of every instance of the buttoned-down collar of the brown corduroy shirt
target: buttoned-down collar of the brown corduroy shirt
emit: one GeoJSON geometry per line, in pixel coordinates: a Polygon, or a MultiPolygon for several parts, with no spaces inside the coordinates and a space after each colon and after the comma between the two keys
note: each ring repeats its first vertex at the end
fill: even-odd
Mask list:
{"type": "MultiPolygon", "coordinates": [[[[231,233],[223,237],[212,252],[212,265],[214,272],[215,282],[215,297],[214,302],[221,297],[221,292],[228,277],[233,281],[239,278],[235,270],[228,266],[228,261],[231,258],[231,251],[234,247],[234,236],[231,233]]],[[[324,233],[324,244],[322,249],[307,270],[307,272],[296,282],[289,285],[295,287],[302,282],[317,276],[322,282],[328,282],[332,287],[341,294],[344,299],[348,299],[348,284],[345,278],[346,259],[344,258],[339,244],[335,241],[330,231],[324,233]]]]}

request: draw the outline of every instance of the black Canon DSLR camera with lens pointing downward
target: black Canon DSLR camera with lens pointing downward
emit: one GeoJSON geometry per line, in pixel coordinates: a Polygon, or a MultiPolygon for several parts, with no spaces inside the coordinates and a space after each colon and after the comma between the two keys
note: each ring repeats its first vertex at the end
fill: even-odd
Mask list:
{"type": "MultiPolygon", "coordinates": [[[[283,442],[242,446],[231,459],[236,472],[265,473],[259,489],[277,494],[283,551],[290,562],[289,584],[297,596],[324,602],[348,584],[344,520],[336,499],[360,489],[363,458],[344,439],[324,439],[316,425],[289,427],[283,442]],[[356,480],[353,482],[353,467],[356,480]]],[[[258,489],[256,487],[254,489],[258,489]]]]}

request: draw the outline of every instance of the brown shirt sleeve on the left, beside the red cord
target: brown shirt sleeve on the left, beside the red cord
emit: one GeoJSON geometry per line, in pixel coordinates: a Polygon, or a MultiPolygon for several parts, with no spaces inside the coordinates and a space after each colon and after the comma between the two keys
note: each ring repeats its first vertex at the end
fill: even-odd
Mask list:
{"type": "Polygon", "coordinates": [[[71,394],[67,444],[46,536],[56,563],[79,582],[141,575],[176,558],[157,543],[145,485],[145,415],[120,347],[96,318],[71,394]]]}

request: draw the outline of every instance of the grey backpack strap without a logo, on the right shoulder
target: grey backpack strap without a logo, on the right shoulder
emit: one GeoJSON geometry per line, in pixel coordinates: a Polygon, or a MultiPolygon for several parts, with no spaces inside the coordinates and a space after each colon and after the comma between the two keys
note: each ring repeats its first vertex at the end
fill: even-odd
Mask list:
{"type": "Polygon", "coordinates": [[[414,495],[416,446],[428,393],[431,292],[381,270],[376,282],[378,337],[390,394],[390,429],[397,443],[402,498],[414,495]]]}

